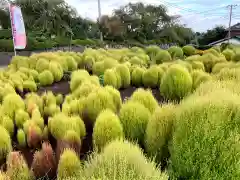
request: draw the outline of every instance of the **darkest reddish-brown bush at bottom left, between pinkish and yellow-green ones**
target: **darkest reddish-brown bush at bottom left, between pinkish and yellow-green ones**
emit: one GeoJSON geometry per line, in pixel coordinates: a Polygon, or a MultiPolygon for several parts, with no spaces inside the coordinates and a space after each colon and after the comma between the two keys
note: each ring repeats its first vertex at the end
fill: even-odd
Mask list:
{"type": "Polygon", "coordinates": [[[34,154],[31,169],[37,179],[42,177],[55,177],[57,162],[52,146],[49,143],[44,142],[42,144],[42,150],[34,154]]]}

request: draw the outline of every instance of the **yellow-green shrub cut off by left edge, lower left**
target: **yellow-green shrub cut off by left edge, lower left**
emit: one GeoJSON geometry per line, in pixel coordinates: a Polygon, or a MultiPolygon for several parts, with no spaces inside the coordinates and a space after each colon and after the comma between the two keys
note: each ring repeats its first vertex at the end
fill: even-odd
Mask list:
{"type": "Polygon", "coordinates": [[[3,126],[0,126],[0,132],[0,161],[2,162],[12,151],[12,141],[8,131],[3,126]]]}

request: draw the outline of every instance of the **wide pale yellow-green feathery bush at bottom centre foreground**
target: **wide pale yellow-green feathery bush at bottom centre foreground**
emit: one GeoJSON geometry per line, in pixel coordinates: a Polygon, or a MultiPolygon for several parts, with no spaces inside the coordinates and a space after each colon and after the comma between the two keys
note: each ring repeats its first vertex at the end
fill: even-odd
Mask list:
{"type": "Polygon", "coordinates": [[[141,149],[128,141],[116,140],[86,164],[82,177],[115,180],[167,180],[156,165],[148,160],[141,149]],[[117,172],[117,173],[116,173],[117,172]]]}

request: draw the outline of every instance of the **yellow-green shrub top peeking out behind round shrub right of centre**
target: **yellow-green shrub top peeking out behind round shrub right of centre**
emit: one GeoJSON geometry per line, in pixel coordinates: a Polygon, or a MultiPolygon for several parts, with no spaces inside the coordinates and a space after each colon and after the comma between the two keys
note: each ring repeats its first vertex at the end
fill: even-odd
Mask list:
{"type": "Polygon", "coordinates": [[[153,113],[158,107],[158,102],[153,96],[150,90],[144,90],[142,88],[137,89],[132,94],[130,101],[141,103],[151,113],[153,113]]]}

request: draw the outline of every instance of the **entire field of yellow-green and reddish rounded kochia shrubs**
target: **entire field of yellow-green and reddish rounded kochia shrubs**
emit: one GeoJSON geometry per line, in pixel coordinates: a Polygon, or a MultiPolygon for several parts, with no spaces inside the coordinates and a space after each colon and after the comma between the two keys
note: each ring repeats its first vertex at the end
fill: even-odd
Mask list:
{"type": "Polygon", "coordinates": [[[239,179],[239,80],[235,48],[15,56],[0,71],[0,179],[239,179]]]}

